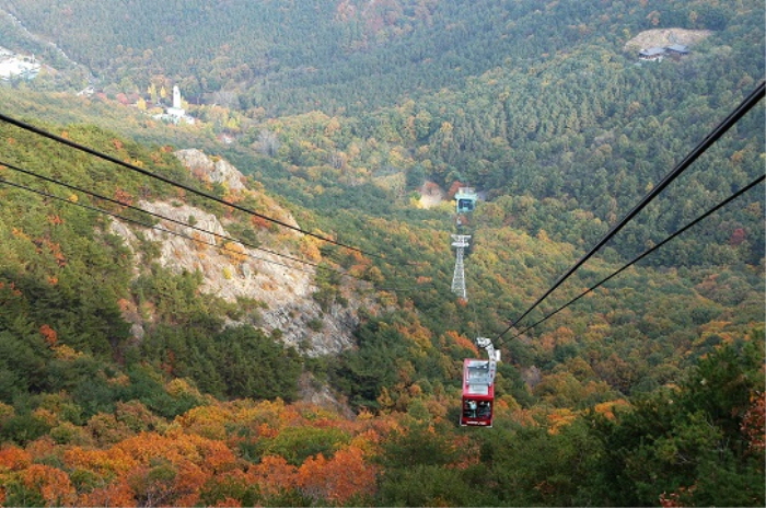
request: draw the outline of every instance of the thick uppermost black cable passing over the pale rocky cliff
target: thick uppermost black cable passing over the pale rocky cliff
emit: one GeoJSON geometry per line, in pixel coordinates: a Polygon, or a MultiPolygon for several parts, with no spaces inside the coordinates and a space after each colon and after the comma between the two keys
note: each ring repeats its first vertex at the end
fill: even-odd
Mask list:
{"type": "Polygon", "coordinates": [[[327,238],[327,236],[324,236],[324,235],[321,235],[321,234],[317,234],[317,233],[313,233],[313,232],[311,232],[311,231],[306,231],[306,230],[304,230],[304,229],[302,229],[302,228],[299,228],[299,227],[297,227],[297,226],[292,226],[292,224],[289,224],[289,223],[287,223],[287,222],[285,222],[285,221],[275,219],[275,218],[272,218],[272,217],[268,217],[268,216],[263,215],[263,213],[259,213],[259,212],[257,212],[257,211],[255,211],[255,210],[253,210],[253,209],[251,209],[251,208],[246,208],[246,207],[243,207],[243,206],[237,205],[237,204],[235,204],[235,203],[228,201],[228,200],[222,199],[222,198],[220,198],[220,197],[218,197],[218,196],[214,196],[214,195],[212,195],[212,194],[210,194],[210,193],[206,193],[206,192],[204,192],[204,190],[199,190],[198,188],[195,188],[195,187],[193,187],[193,186],[190,186],[190,185],[186,185],[186,184],[183,184],[183,183],[181,183],[181,182],[176,182],[176,181],[171,180],[171,178],[169,178],[169,177],[166,177],[166,176],[162,176],[162,175],[160,175],[160,174],[156,174],[156,173],[153,173],[153,172],[151,172],[151,171],[144,170],[143,168],[139,168],[139,166],[136,165],[136,164],[131,164],[131,163],[129,163],[129,162],[121,161],[121,160],[119,160],[119,159],[117,159],[117,158],[115,158],[115,157],[112,157],[112,155],[107,154],[107,153],[101,152],[101,151],[98,151],[98,150],[94,150],[94,149],[92,149],[92,148],[90,148],[90,147],[86,147],[86,146],[84,146],[84,145],[81,145],[81,143],[78,143],[78,142],[76,142],[76,141],[72,141],[71,139],[67,139],[67,138],[65,138],[65,137],[57,136],[57,135],[55,135],[55,134],[53,134],[53,132],[49,132],[49,131],[47,131],[47,130],[45,130],[45,129],[42,129],[42,128],[39,128],[39,127],[36,127],[36,126],[32,125],[32,124],[28,124],[28,123],[19,120],[19,119],[13,118],[13,117],[10,117],[10,116],[8,116],[8,115],[5,115],[5,114],[3,114],[3,113],[0,113],[0,122],[4,122],[4,123],[7,123],[7,124],[14,125],[14,126],[16,126],[16,127],[19,127],[19,128],[21,128],[21,129],[23,129],[23,130],[27,130],[27,131],[30,131],[30,132],[33,132],[33,134],[37,135],[37,136],[42,136],[42,137],[44,137],[44,138],[50,139],[50,140],[53,140],[53,141],[59,142],[59,143],[61,143],[61,145],[66,145],[66,146],[68,146],[68,147],[70,147],[70,148],[73,148],[73,149],[76,149],[76,150],[79,150],[79,151],[89,153],[89,154],[94,155],[94,157],[96,157],[96,158],[100,158],[100,159],[102,159],[102,160],[105,160],[105,161],[112,162],[112,163],[114,163],[114,164],[120,165],[120,166],[123,166],[123,168],[125,168],[125,169],[127,169],[127,170],[134,171],[134,172],[139,173],[139,174],[142,174],[142,175],[144,175],[144,176],[149,176],[150,178],[158,180],[158,181],[163,182],[163,183],[165,183],[165,184],[172,185],[172,186],[174,186],[174,187],[176,187],[176,188],[182,188],[182,189],[184,189],[184,190],[186,190],[186,192],[188,192],[188,193],[195,194],[195,195],[200,196],[200,197],[204,197],[204,198],[206,198],[206,199],[210,199],[210,200],[216,201],[216,203],[218,203],[218,204],[220,204],[220,205],[224,205],[224,206],[231,207],[231,208],[233,208],[233,209],[235,209],[235,210],[239,210],[239,211],[242,211],[242,212],[245,212],[245,213],[255,216],[255,217],[259,217],[259,218],[262,218],[262,219],[264,219],[264,220],[267,220],[267,221],[269,221],[269,222],[271,222],[271,223],[275,223],[275,224],[277,224],[277,226],[280,226],[280,227],[282,227],[282,228],[287,228],[287,229],[290,229],[290,230],[293,230],[293,231],[298,231],[298,232],[300,232],[300,233],[302,233],[302,234],[305,234],[305,235],[307,235],[307,236],[315,238],[315,239],[317,239],[317,240],[321,240],[321,241],[323,241],[323,242],[330,243],[330,244],[333,244],[333,245],[337,245],[337,246],[339,246],[339,247],[348,249],[349,251],[358,252],[358,253],[363,254],[363,255],[369,256],[369,257],[374,257],[374,258],[383,259],[383,261],[386,261],[386,262],[388,261],[386,257],[384,257],[384,256],[382,256],[382,255],[379,255],[379,254],[376,254],[376,253],[372,253],[372,252],[369,252],[369,251],[364,251],[364,250],[361,250],[361,249],[356,247],[356,246],[353,246],[353,245],[349,245],[349,244],[344,243],[344,242],[338,242],[338,241],[333,240],[333,239],[330,239],[330,238],[327,238]]]}

